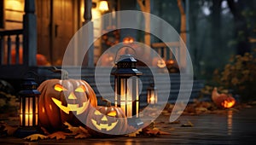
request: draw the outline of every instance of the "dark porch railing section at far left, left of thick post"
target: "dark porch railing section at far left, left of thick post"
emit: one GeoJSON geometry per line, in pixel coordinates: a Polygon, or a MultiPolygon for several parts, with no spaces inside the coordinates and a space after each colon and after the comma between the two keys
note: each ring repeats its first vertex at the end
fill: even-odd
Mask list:
{"type": "Polygon", "coordinates": [[[0,32],[0,65],[20,64],[21,36],[23,36],[22,29],[0,32]],[[15,57],[12,56],[12,51],[15,52],[15,57]]]}

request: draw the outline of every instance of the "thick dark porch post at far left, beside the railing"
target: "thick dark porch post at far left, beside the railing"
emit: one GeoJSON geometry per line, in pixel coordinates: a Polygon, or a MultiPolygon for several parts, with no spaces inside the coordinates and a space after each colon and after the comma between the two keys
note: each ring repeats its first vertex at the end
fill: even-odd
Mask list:
{"type": "Polygon", "coordinates": [[[23,64],[36,66],[37,60],[37,17],[34,0],[25,0],[23,15],[23,64]]]}

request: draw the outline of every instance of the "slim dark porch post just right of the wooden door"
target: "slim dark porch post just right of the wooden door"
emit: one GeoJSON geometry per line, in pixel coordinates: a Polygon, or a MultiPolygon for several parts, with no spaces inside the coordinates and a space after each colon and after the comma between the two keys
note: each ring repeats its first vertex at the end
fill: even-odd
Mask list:
{"type": "Polygon", "coordinates": [[[94,67],[94,44],[91,44],[90,42],[93,42],[93,22],[91,22],[91,6],[92,2],[91,0],[84,0],[84,25],[87,25],[86,32],[88,32],[88,35],[85,37],[85,44],[89,48],[87,51],[86,59],[87,59],[87,66],[88,67],[94,67]]]}

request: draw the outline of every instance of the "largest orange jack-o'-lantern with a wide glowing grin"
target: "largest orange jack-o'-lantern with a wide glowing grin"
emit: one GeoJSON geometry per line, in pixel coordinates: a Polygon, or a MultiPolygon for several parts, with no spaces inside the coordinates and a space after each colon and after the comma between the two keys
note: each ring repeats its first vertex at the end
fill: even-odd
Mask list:
{"type": "Polygon", "coordinates": [[[38,90],[39,122],[47,131],[64,130],[64,122],[82,125],[79,119],[84,120],[88,109],[97,106],[96,94],[84,80],[49,79],[38,90]]]}

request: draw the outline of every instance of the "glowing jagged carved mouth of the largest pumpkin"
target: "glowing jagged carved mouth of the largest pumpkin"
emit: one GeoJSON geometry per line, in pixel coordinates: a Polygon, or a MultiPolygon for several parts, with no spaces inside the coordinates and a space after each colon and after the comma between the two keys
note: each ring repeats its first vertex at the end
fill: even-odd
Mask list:
{"type": "Polygon", "coordinates": [[[83,102],[82,107],[79,107],[79,104],[67,104],[67,107],[61,105],[62,102],[59,101],[58,99],[55,99],[54,97],[51,98],[53,102],[55,102],[55,104],[61,108],[61,110],[64,113],[69,114],[70,111],[76,111],[77,115],[84,113],[84,111],[87,109],[90,99],[88,100],[88,102],[83,102]]]}

